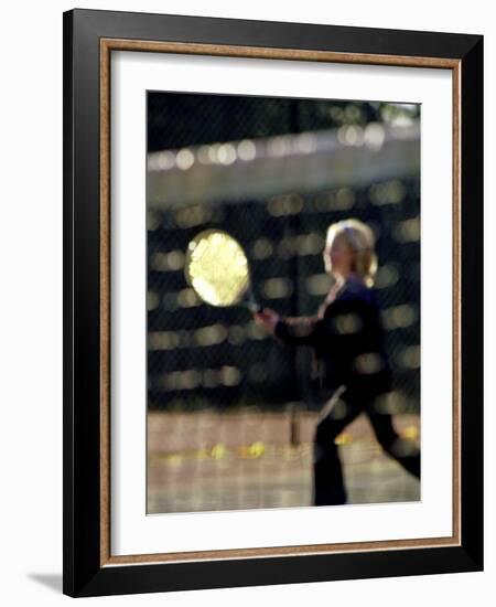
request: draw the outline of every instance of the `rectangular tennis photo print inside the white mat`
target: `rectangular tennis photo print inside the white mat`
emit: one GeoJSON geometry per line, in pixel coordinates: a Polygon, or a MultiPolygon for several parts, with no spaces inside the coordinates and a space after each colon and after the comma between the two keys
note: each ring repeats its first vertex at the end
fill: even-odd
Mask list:
{"type": "Polygon", "coordinates": [[[148,514],[421,499],[420,107],[148,90],[148,514]]]}

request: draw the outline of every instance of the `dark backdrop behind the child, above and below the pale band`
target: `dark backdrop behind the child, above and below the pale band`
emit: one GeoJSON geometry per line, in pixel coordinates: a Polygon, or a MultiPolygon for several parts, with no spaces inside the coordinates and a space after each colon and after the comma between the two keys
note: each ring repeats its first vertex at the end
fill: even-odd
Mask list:
{"type": "MultiPolygon", "coordinates": [[[[164,157],[173,159],[188,150],[182,157],[187,178],[188,164],[200,162],[213,143],[334,129],[338,137],[347,132],[355,146],[370,125],[411,126],[419,111],[385,103],[149,93],[148,152],[174,150],[164,157]]],[[[420,141],[416,153],[420,158],[420,141]]],[[[314,191],[204,203],[185,199],[169,207],[149,201],[149,407],[321,406],[310,380],[310,351],[281,347],[244,308],[203,303],[184,278],[184,254],[198,232],[225,230],[245,248],[262,305],[282,315],[312,315],[330,287],[322,263],[326,228],[349,216],[369,223],[377,236],[376,287],[395,373],[393,406],[419,411],[420,175],[398,174],[395,166],[365,182],[314,191]]]]}

